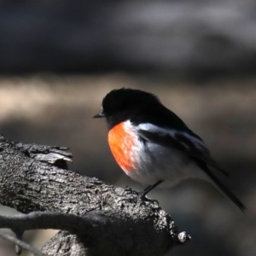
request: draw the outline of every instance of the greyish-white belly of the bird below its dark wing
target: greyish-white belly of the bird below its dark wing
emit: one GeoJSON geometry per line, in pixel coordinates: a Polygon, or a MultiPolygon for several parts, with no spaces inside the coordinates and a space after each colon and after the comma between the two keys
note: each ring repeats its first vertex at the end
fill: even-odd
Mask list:
{"type": "MultiPolygon", "coordinates": [[[[164,180],[160,186],[170,187],[186,178],[201,178],[209,181],[207,175],[189,156],[176,149],[138,141],[140,153],[134,170],[125,172],[139,183],[152,185],[164,180]]],[[[125,170],[124,170],[125,171],[125,170]]]]}

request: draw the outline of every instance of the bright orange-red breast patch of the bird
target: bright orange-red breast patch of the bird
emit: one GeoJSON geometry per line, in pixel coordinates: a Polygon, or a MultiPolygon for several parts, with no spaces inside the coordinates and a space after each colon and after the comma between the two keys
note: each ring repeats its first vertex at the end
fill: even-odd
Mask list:
{"type": "Polygon", "coordinates": [[[125,172],[130,172],[134,164],[132,148],[135,146],[135,138],[127,130],[129,129],[125,127],[125,122],[115,125],[108,132],[108,144],[119,166],[125,172]]]}

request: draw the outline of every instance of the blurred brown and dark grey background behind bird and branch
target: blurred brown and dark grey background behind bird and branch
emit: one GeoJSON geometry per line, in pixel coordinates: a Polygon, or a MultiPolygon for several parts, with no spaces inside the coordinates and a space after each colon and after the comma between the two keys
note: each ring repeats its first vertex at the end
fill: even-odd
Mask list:
{"type": "MultiPolygon", "coordinates": [[[[148,196],[192,236],[166,255],[256,255],[255,17],[253,0],[2,0],[0,132],[70,147],[71,170],[141,191],[114,162],[104,120],[92,116],[109,90],[148,90],[204,139],[247,206],[241,213],[196,180],[155,189],[148,196]]],[[[41,247],[54,234],[25,240],[41,247]]],[[[14,246],[0,241],[2,255],[14,246]]]]}

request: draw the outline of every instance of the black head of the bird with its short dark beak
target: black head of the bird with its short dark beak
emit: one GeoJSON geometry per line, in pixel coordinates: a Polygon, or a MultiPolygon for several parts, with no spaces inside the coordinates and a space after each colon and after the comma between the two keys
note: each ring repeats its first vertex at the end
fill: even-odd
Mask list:
{"type": "Polygon", "coordinates": [[[151,93],[143,90],[119,89],[111,90],[102,101],[102,112],[94,118],[105,117],[108,128],[120,122],[131,119],[135,115],[160,104],[159,99],[151,93]]]}

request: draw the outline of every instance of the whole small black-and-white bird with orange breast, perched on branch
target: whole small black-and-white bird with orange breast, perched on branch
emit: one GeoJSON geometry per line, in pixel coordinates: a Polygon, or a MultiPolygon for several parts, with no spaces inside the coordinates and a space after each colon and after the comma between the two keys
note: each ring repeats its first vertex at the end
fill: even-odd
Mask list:
{"type": "Polygon", "coordinates": [[[242,212],[246,209],[210,170],[209,166],[229,176],[212,159],[201,137],[157,96],[143,90],[111,90],[94,118],[107,119],[108,144],[125,174],[149,185],[142,197],[158,185],[169,187],[196,177],[213,183],[242,212]]]}

